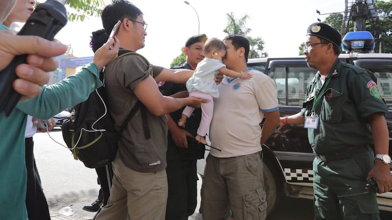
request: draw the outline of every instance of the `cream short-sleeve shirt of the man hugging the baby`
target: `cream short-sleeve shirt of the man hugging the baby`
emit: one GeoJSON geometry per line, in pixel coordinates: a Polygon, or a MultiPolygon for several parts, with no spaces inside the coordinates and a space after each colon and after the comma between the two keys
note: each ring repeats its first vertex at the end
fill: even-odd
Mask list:
{"type": "Polygon", "coordinates": [[[211,155],[220,158],[243,156],[261,150],[263,112],[279,109],[275,82],[266,74],[250,69],[252,78],[224,76],[214,98],[214,115],[209,139],[211,155]]]}

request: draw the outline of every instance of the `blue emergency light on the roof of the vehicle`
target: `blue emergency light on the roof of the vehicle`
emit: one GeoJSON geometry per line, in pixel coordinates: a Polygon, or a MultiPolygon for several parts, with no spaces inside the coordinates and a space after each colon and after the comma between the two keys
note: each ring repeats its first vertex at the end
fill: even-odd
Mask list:
{"type": "Polygon", "coordinates": [[[374,38],[369,31],[348,32],[342,40],[342,49],[346,52],[369,52],[374,50],[374,46],[374,38]]]}

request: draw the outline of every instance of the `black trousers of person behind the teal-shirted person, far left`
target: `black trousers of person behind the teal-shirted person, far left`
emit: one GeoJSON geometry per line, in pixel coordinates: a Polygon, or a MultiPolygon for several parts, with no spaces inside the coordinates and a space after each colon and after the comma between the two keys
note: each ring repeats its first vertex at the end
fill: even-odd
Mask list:
{"type": "Polygon", "coordinates": [[[28,220],[50,220],[48,202],[37,176],[33,138],[25,138],[25,163],[27,169],[26,208],[28,220]]]}

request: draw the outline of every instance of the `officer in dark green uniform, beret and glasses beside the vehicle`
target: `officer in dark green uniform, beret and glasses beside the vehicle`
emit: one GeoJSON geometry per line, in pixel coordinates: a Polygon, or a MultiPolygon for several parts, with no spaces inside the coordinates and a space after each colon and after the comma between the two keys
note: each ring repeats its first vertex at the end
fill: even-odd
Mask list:
{"type": "Polygon", "coordinates": [[[308,27],[305,60],[318,72],[308,86],[304,108],[280,118],[280,126],[304,124],[308,129],[316,155],[316,220],[379,220],[376,193],[365,187],[374,178],[378,193],[392,188],[385,120],[388,108],[372,73],[338,58],[341,39],[327,24],[308,27]]]}

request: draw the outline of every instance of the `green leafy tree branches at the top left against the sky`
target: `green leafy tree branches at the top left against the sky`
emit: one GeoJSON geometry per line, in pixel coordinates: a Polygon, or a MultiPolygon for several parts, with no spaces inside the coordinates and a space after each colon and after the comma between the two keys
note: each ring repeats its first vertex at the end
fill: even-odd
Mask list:
{"type": "MultiPolygon", "coordinates": [[[[37,4],[44,1],[37,1],[37,4]]],[[[103,0],[68,0],[68,20],[71,22],[84,21],[88,16],[99,16],[104,5],[103,0]]]]}

